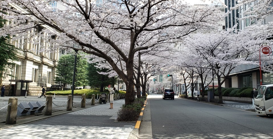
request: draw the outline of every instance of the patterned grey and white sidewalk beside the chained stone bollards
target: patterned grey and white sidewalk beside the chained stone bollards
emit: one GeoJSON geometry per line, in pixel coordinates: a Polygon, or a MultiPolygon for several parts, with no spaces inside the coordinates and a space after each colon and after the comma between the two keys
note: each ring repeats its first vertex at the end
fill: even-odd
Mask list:
{"type": "Polygon", "coordinates": [[[129,138],[135,122],[115,122],[123,104],[124,99],[115,100],[114,109],[108,109],[107,103],[58,111],[51,116],[24,117],[17,119],[19,125],[5,125],[9,126],[5,129],[1,129],[1,123],[1,138],[129,138]]]}

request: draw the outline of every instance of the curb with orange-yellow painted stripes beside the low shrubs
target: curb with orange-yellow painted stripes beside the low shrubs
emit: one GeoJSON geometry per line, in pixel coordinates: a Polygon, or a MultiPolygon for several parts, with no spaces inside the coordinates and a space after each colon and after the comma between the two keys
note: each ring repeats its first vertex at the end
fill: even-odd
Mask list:
{"type": "Polygon", "coordinates": [[[144,105],[143,105],[143,107],[142,107],[142,109],[141,109],[141,112],[140,112],[139,117],[138,117],[138,119],[137,119],[137,123],[136,123],[136,125],[135,125],[135,128],[131,131],[131,133],[130,133],[128,139],[138,138],[139,127],[140,127],[140,125],[141,125],[141,121],[142,121],[142,118],[143,118],[144,110],[145,110],[145,108],[146,108],[146,104],[147,104],[147,99],[145,100],[144,105]]]}

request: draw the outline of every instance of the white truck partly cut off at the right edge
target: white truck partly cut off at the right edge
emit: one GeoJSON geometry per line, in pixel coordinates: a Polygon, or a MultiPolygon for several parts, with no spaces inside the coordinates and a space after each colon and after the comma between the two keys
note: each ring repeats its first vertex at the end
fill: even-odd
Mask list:
{"type": "Polygon", "coordinates": [[[273,84],[261,85],[254,91],[254,105],[256,113],[273,116],[273,84]]]}

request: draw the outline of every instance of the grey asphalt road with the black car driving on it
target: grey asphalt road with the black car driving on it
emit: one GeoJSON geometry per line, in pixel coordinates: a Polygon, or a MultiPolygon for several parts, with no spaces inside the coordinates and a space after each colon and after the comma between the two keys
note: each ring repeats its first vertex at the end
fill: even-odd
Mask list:
{"type": "Polygon", "coordinates": [[[149,95],[152,138],[273,138],[273,118],[175,97],[149,95]]]}

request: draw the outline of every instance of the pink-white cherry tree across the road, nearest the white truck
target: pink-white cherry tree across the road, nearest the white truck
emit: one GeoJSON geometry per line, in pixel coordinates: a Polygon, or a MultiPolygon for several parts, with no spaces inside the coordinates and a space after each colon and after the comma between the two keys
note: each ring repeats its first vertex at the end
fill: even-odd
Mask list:
{"type": "MultiPolygon", "coordinates": [[[[261,29],[259,26],[252,28],[261,29]]],[[[207,68],[214,71],[218,81],[219,98],[222,99],[221,85],[225,79],[238,65],[256,64],[253,59],[257,59],[256,52],[267,36],[267,33],[252,33],[248,28],[239,32],[228,29],[221,32],[196,33],[188,37],[186,50],[191,52],[188,57],[194,59],[194,63],[198,59],[202,60],[209,65],[207,68]]]]}

